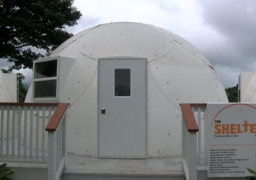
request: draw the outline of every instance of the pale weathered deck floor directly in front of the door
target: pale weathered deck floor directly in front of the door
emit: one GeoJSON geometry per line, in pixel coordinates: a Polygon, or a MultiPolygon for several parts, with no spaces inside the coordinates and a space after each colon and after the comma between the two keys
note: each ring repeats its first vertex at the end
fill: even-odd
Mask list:
{"type": "Polygon", "coordinates": [[[64,174],[102,176],[183,176],[181,156],[150,159],[98,159],[89,156],[66,156],[64,174]]]}

